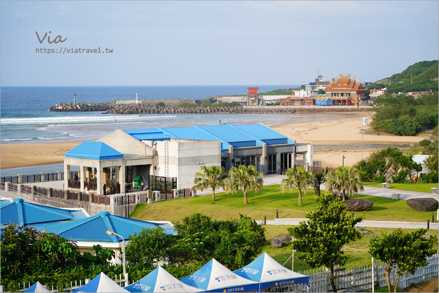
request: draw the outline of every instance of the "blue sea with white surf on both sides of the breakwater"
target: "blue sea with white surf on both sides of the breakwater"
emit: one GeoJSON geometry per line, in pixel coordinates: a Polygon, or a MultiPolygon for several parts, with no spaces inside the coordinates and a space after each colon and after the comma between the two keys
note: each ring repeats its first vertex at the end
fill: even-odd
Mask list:
{"type": "MultiPolygon", "coordinates": [[[[99,138],[116,129],[153,128],[178,124],[245,123],[270,120],[279,124],[291,115],[140,114],[51,112],[61,102],[106,102],[111,99],[203,99],[215,95],[245,95],[253,85],[212,86],[2,86],[0,143],[43,143],[99,138]]],[[[258,86],[258,85],[256,85],[258,86]]],[[[259,85],[259,92],[298,85],[259,85]]],[[[298,117],[296,117],[298,118],[298,117]]]]}

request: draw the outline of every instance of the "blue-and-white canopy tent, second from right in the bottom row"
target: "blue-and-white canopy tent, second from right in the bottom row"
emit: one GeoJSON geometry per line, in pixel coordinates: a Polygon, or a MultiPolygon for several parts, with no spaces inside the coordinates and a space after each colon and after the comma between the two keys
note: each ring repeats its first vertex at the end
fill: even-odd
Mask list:
{"type": "Polygon", "coordinates": [[[243,278],[230,271],[212,258],[200,270],[180,280],[181,282],[206,290],[206,292],[256,291],[258,282],[243,278]]]}

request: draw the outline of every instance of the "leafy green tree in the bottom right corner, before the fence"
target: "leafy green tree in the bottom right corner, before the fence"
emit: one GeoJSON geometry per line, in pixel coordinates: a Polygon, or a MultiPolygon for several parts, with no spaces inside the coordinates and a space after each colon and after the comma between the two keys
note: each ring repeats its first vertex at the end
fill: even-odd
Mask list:
{"type": "Polygon", "coordinates": [[[389,292],[392,292],[389,272],[393,266],[398,266],[398,276],[394,284],[394,292],[397,292],[400,276],[405,272],[414,274],[418,268],[427,266],[427,257],[438,251],[433,248],[436,246],[438,237],[426,238],[424,237],[426,232],[427,229],[403,232],[398,228],[393,233],[383,230],[380,237],[371,239],[368,252],[385,263],[384,273],[389,292]]]}

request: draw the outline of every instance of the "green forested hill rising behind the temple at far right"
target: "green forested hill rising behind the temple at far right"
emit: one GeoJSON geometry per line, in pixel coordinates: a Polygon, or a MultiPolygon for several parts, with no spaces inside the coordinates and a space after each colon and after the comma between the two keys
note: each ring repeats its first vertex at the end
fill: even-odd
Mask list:
{"type": "MultiPolygon", "coordinates": [[[[438,60],[415,63],[401,73],[393,74],[390,78],[380,81],[379,84],[366,86],[366,89],[387,87],[389,93],[438,91],[438,63],[438,60]]],[[[368,95],[369,91],[366,94],[368,95]]]]}

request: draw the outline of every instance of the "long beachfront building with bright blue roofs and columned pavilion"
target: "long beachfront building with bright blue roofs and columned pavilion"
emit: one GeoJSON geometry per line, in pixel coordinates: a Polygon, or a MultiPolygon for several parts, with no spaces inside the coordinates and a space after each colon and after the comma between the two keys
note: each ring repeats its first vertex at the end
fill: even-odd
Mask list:
{"type": "Polygon", "coordinates": [[[69,166],[80,166],[82,191],[96,172],[98,194],[107,192],[103,185],[108,188],[111,180],[123,193],[136,176],[145,188],[157,186],[151,185],[154,177],[159,182],[157,178],[172,179],[177,182],[173,189],[182,189],[193,186],[201,165],[222,166],[225,171],[253,165],[264,174],[275,174],[293,167],[298,155],[302,164],[313,164],[312,145],[297,144],[261,123],[118,129],[67,152],[64,174],[69,174],[69,166]]]}

